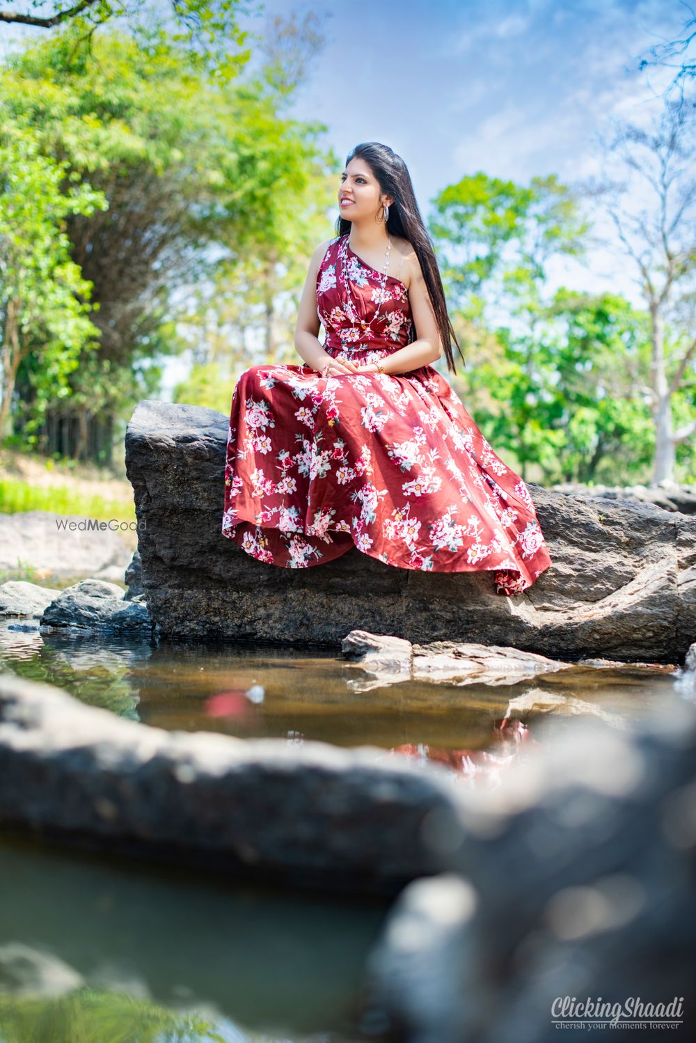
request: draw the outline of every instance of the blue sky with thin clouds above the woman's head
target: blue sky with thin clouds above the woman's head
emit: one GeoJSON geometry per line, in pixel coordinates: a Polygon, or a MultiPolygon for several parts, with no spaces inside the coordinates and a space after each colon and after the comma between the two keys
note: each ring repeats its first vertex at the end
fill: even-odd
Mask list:
{"type": "MultiPolygon", "coordinates": [[[[293,113],[327,124],[342,160],[382,141],[406,162],[423,211],[445,185],[483,170],[528,180],[594,169],[607,117],[640,122],[664,74],[637,71],[674,39],[679,0],[267,0],[269,14],[328,17],[328,42],[293,113]]],[[[259,19],[246,19],[249,27],[259,19]]]]}

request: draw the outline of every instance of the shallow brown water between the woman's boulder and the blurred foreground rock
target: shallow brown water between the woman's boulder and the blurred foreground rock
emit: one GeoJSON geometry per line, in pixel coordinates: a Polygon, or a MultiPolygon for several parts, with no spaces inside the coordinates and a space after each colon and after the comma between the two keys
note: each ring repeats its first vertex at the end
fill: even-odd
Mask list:
{"type": "Polygon", "coordinates": [[[630,728],[683,698],[681,672],[657,664],[585,660],[541,676],[518,672],[507,683],[470,676],[466,685],[437,677],[389,683],[366,672],[364,690],[359,664],[326,651],[41,635],[6,624],[0,666],[160,728],[376,746],[417,762],[438,759],[470,780],[493,778],[494,766],[519,756],[504,722],[533,732],[548,713],[569,726],[597,715],[630,728]]]}

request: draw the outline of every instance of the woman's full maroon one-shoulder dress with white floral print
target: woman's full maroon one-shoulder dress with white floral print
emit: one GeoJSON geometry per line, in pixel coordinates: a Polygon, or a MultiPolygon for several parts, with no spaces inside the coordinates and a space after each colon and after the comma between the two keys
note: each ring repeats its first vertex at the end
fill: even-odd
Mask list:
{"type": "MultiPolygon", "coordinates": [[[[317,278],[328,355],[376,362],[408,343],[408,291],[388,275],[375,318],[381,282],[348,235],[331,241],[317,278]],[[361,331],[371,319],[368,339],[361,331]]],[[[306,363],[242,373],[222,532],[285,568],[320,565],[355,545],[399,568],[490,571],[504,595],[521,593],[551,564],[525,483],[429,365],[397,375],[323,378],[306,363]]]]}

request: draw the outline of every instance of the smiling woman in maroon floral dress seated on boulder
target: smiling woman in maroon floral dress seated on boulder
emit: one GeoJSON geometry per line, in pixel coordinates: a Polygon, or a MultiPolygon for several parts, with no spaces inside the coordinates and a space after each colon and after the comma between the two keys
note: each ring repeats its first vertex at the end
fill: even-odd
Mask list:
{"type": "Polygon", "coordinates": [[[444,348],[455,371],[450,339],[462,351],[403,160],[358,145],[339,207],[300,300],[303,365],[251,366],[234,387],[223,535],[285,568],[354,545],[521,593],[551,559],[526,485],[432,366],[444,348]]]}

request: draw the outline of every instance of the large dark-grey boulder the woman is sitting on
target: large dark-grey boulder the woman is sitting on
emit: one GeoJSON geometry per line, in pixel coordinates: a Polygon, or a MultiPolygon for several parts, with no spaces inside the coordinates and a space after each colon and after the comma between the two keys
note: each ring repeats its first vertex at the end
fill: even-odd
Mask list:
{"type": "Polygon", "coordinates": [[[696,636],[696,518],[530,484],[552,565],[524,595],[490,573],[395,568],[357,550],[279,568],[221,533],[228,419],[141,403],[126,432],[143,587],[160,634],[338,646],[351,629],[564,659],[680,661],[696,636]]]}

